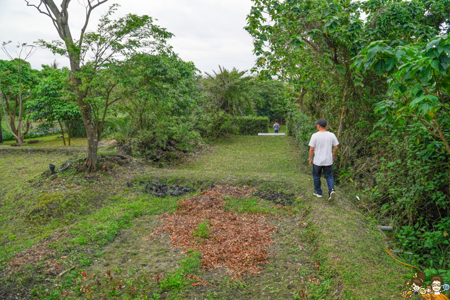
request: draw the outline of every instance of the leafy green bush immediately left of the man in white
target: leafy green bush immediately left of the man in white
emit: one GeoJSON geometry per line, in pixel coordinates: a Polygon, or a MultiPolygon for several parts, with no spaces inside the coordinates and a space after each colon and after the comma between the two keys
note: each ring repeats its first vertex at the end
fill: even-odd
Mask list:
{"type": "Polygon", "coordinates": [[[295,143],[300,149],[302,158],[309,156],[309,139],[311,134],[316,132],[314,120],[304,113],[295,111],[289,112],[286,118],[287,135],[295,137],[295,143]]]}

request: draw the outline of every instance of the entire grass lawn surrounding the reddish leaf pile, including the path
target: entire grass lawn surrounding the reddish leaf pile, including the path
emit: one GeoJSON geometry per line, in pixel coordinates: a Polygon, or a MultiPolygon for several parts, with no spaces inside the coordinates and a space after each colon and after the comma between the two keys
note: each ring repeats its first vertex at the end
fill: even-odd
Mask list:
{"type": "Polygon", "coordinates": [[[337,187],[335,203],[312,195],[310,169],[288,136],[230,136],[172,168],[135,158],[104,174],[42,173],[83,155],[0,155],[0,298],[391,299],[413,275],[384,253],[386,240],[355,208],[357,191],[337,187]],[[296,198],[280,206],[224,197],[226,211],[275,227],[260,273],[232,280],[224,268],[203,269],[195,251],[170,247],[170,235],[147,238],[182,197],[138,194],[139,180],[188,184],[197,189],[189,196],[226,183],[296,198]]]}

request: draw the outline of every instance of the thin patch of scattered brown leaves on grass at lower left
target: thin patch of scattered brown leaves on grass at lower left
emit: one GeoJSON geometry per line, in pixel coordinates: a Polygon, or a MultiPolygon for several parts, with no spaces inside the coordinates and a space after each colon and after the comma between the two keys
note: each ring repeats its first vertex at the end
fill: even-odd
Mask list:
{"type": "Polygon", "coordinates": [[[55,258],[50,259],[50,257],[56,252],[56,249],[52,249],[49,244],[58,241],[63,237],[67,237],[68,235],[68,232],[55,233],[47,238],[43,238],[39,243],[16,253],[14,257],[8,261],[8,268],[14,271],[20,268],[22,265],[35,263],[47,258],[45,260],[45,264],[48,265],[48,269],[46,271],[58,273],[61,270],[61,266],[58,262],[56,262],[55,258]]]}

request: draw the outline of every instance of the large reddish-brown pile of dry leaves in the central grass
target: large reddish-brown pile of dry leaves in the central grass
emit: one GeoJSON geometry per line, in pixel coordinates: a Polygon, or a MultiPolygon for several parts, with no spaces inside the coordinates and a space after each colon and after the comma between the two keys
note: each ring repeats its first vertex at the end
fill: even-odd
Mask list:
{"type": "MultiPolygon", "coordinates": [[[[164,214],[164,225],[156,228],[152,236],[171,233],[172,247],[198,250],[204,269],[225,267],[229,274],[239,277],[244,273],[257,274],[258,264],[267,263],[273,244],[270,234],[274,227],[264,216],[237,214],[222,209],[227,196],[242,197],[251,190],[231,186],[216,186],[202,191],[200,196],[184,199],[173,214],[164,214]],[[193,236],[201,222],[207,223],[207,237],[193,236]]],[[[148,240],[148,237],[146,238],[148,240]]]]}

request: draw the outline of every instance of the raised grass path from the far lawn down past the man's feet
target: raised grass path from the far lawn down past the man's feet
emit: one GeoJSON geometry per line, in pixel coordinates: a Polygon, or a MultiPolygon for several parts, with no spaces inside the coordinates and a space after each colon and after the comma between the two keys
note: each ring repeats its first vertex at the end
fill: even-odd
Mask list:
{"type": "MultiPolygon", "coordinates": [[[[233,136],[219,140],[212,152],[184,167],[164,171],[163,178],[184,175],[186,182],[247,184],[302,195],[311,257],[323,280],[321,299],[391,299],[414,269],[394,261],[384,249],[388,240],[373,219],[356,208],[358,191],[336,186],[337,201],[312,194],[311,169],[300,161],[289,137],[233,136]]],[[[322,186],[326,182],[322,178],[322,186]]],[[[409,279],[410,280],[410,279],[409,279]]]]}

